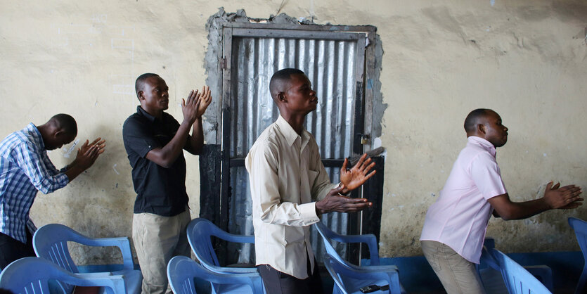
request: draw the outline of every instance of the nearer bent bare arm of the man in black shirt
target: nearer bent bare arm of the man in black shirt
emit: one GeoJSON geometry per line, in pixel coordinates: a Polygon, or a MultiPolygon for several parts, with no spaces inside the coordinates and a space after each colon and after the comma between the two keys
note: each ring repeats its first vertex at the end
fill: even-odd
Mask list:
{"type": "MultiPolygon", "coordinates": [[[[157,163],[165,168],[169,168],[173,165],[175,160],[183,152],[183,147],[186,146],[188,141],[188,134],[190,128],[196,120],[198,120],[198,109],[200,108],[200,94],[198,91],[191,91],[188,95],[188,101],[181,99],[181,112],[183,113],[183,121],[179,125],[179,129],[173,136],[172,140],[162,148],[154,148],[147,153],[146,158],[150,161],[157,163]]],[[[200,117],[201,120],[201,117],[200,117]]],[[[200,130],[202,124],[200,123],[200,130]]],[[[201,136],[199,136],[201,139],[201,136]]],[[[200,146],[201,148],[201,146],[200,146]]]]}

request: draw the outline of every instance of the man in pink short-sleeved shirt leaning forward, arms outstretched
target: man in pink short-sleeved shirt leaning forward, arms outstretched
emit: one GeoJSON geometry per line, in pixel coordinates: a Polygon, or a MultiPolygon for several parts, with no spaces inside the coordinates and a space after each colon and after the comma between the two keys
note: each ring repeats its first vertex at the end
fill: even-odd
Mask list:
{"type": "Polygon", "coordinates": [[[467,146],[460,151],[436,203],[426,214],[420,243],[447,293],[485,293],[479,264],[491,214],[524,219],[546,210],[576,208],[581,188],[546,185],[543,198],[512,202],[501,180],[496,148],[508,141],[508,128],[490,109],[473,110],[465,119],[467,146]]]}

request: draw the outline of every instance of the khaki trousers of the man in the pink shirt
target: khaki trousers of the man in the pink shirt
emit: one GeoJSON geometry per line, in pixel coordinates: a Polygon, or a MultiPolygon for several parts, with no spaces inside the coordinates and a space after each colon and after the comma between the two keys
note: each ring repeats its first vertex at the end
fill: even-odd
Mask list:
{"type": "Polygon", "coordinates": [[[440,279],[446,293],[485,294],[475,264],[465,260],[449,246],[436,241],[420,241],[430,267],[440,279]]]}

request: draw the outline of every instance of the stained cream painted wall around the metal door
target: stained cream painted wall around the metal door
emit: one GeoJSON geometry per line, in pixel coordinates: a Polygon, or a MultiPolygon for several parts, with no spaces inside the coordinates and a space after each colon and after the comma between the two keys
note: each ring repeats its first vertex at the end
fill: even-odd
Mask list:
{"type": "MultiPolygon", "coordinates": [[[[96,164],[66,188],[39,193],[31,212],[36,224],[60,222],[97,237],[131,236],[135,194],[122,123],[138,104],[134,79],[143,72],[166,79],[169,113],[181,120],[181,97],[205,82],[209,16],[224,6],[268,18],[281,2],[0,0],[0,136],[70,113],[78,139],[102,136],[108,143],[96,164]]],[[[536,198],[550,180],[587,186],[584,1],[284,3],[280,12],[295,18],[378,28],[385,51],[382,95],[389,105],[380,138],[387,148],[382,255],[421,254],[425,212],[465,145],[462,124],[474,108],[493,108],[510,127],[498,162],[512,199],[536,198]]],[[[50,153],[58,167],[74,156],[50,153]]],[[[195,217],[198,157],[186,159],[195,217]]],[[[578,250],[569,216],[587,218],[587,212],[494,219],[488,235],[506,252],[578,250]]],[[[111,254],[75,249],[86,264],[110,262],[111,254]]]]}

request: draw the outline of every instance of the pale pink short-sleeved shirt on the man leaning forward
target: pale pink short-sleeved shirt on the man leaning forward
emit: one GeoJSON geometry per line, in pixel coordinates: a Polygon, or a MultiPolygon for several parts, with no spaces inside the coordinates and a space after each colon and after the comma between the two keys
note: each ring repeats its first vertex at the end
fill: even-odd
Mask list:
{"type": "Polygon", "coordinates": [[[495,156],[489,141],[469,137],[437,202],[428,208],[421,241],[444,243],[465,260],[479,263],[493,212],[487,200],[508,193],[495,156]]]}

